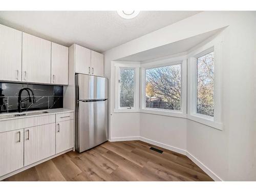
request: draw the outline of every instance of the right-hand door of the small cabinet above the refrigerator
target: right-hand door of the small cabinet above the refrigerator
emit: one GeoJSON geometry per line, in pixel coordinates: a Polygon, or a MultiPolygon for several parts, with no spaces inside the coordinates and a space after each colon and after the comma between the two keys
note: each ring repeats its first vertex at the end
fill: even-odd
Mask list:
{"type": "Polygon", "coordinates": [[[101,53],[92,51],[91,54],[92,75],[104,76],[104,56],[101,53]]]}

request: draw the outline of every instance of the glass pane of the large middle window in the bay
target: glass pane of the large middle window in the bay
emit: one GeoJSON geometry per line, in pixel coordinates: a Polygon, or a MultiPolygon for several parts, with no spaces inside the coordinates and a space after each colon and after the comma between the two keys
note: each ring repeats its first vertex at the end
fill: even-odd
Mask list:
{"type": "Polygon", "coordinates": [[[146,108],[181,110],[181,65],[146,70],[146,108]]]}

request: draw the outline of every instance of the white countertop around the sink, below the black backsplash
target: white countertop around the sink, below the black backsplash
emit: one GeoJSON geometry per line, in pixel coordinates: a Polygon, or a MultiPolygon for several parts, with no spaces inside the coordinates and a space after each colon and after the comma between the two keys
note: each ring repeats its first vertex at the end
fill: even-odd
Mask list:
{"type": "Polygon", "coordinates": [[[74,112],[73,110],[65,109],[65,108],[59,108],[59,109],[49,109],[49,110],[35,110],[35,111],[25,111],[22,113],[4,113],[0,114],[0,121],[4,120],[11,120],[11,119],[19,119],[19,118],[26,118],[26,117],[35,117],[35,116],[41,116],[41,115],[52,115],[52,114],[58,114],[58,113],[68,113],[68,112],[74,112]],[[48,112],[48,113],[40,113],[40,112],[48,112]],[[24,114],[27,115],[24,116],[14,116],[16,114],[24,114]],[[38,113],[38,114],[35,114],[38,113]]]}

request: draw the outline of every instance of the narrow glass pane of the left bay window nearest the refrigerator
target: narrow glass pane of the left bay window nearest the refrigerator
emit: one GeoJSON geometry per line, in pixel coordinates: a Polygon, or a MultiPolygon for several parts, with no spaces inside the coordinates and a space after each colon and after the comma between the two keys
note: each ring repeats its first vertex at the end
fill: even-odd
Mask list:
{"type": "Polygon", "coordinates": [[[120,107],[134,106],[134,69],[120,69],[120,107]]]}

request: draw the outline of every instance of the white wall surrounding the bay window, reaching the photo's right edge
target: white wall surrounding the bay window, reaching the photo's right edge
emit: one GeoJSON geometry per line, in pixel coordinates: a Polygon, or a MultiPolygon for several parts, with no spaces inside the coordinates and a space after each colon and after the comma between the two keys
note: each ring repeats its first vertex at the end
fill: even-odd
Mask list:
{"type": "Polygon", "coordinates": [[[202,12],[106,51],[105,75],[112,81],[111,137],[138,134],[187,151],[222,180],[256,180],[255,18],[255,12],[202,12]],[[223,131],[175,117],[113,114],[112,60],[225,26],[228,33],[223,46],[223,131]]]}

